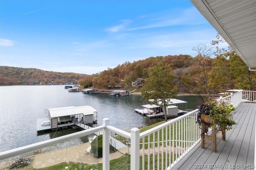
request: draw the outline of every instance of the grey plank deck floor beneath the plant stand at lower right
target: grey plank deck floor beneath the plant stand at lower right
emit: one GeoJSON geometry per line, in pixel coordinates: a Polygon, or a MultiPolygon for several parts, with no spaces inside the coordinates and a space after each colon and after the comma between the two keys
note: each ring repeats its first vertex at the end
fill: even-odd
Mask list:
{"type": "Polygon", "coordinates": [[[200,143],[186,154],[174,170],[210,170],[210,169],[253,169],[255,147],[256,103],[241,103],[236,108],[236,125],[226,131],[226,141],[217,135],[217,152],[212,152],[212,142],[206,140],[206,149],[200,143]]]}

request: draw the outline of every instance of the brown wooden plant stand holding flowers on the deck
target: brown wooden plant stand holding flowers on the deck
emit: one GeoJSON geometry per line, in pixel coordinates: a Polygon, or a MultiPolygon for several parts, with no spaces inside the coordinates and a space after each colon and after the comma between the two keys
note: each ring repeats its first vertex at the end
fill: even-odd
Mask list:
{"type": "MultiPolygon", "coordinates": [[[[209,116],[209,115],[201,115],[201,119],[206,122],[206,123],[210,123],[210,124],[214,124],[213,119],[209,116]]],[[[201,124],[201,128],[204,129],[205,124],[202,123],[201,124]]],[[[202,130],[201,130],[202,131],[202,130]]],[[[222,141],[226,141],[226,129],[221,129],[222,131],[222,141]]],[[[201,138],[201,148],[205,149],[205,139],[211,140],[212,141],[212,152],[217,152],[217,133],[219,131],[216,129],[216,127],[212,127],[212,135],[202,135],[201,138]]]]}

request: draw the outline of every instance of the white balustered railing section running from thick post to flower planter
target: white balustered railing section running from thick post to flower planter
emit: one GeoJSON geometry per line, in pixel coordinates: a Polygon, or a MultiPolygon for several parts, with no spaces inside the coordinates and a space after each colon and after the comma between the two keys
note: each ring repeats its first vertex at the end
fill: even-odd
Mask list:
{"type": "Polygon", "coordinates": [[[197,113],[198,109],[140,133],[136,155],[142,155],[142,170],[170,169],[200,141],[197,113]]]}

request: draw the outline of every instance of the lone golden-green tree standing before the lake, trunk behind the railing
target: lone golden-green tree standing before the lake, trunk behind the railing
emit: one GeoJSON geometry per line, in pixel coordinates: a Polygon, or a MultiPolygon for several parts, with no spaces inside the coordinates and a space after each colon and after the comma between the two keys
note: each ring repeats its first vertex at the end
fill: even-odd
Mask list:
{"type": "Polygon", "coordinates": [[[166,106],[170,98],[176,98],[178,89],[175,86],[176,77],[172,74],[172,68],[158,63],[149,69],[149,77],[141,89],[141,101],[153,99],[153,104],[162,104],[165,121],[167,121],[166,106]]]}

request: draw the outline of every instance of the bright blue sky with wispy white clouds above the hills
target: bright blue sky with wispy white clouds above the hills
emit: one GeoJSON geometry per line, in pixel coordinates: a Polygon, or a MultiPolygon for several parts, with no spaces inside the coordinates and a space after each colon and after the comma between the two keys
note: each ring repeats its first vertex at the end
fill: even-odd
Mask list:
{"type": "Polygon", "coordinates": [[[1,66],[95,74],[216,35],[189,0],[0,1],[1,66]]]}

